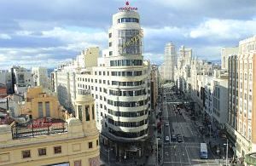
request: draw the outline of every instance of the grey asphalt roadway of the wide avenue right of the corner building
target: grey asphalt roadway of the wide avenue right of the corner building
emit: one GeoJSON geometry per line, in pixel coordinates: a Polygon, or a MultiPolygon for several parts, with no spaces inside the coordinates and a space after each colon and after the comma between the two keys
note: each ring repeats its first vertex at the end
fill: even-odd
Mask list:
{"type": "Polygon", "coordinates": [[[200,143],[203,138],[199,133],[194,121],[190,120],[183,111],[182,115],[176,114],[173,111],[173,102],[183,101],[173,97],[171,91],[165,92],[163,101],[163,120],[164,126],[164,139],[169,136],[170,141],[164,141],[163,148],[163,165],[165,166],[183,166],[183,165],[218,165],[218,160],[212,156],[212,152],[208,150],[208,159],[200,158],[200,143]],[[168,103],[166,103],[166,101],[168,103]],[[169,125],[166,126],[166,123],[169,125]],[[183,142],[177,143],[171,141],[171,134],[182,135],[183,142]]]}

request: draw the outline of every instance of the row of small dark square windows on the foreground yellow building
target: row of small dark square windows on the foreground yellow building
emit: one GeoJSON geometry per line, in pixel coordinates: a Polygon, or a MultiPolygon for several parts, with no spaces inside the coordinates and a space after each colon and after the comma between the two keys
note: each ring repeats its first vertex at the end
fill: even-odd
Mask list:
{"type": "MultiPolygon", "coordinates": [[[[99,140],[96,140],[96,146],[99,146],[99,140]]],[[[92,148],[92,142],[88,142],[88,148],[92,148]]],[[[54,146],[53,151],[55,154],[59,154],[62,152],[61,146],[54,146]]],[[[44,148],[38,148],[38,156],[46,156],[47,149],[44,148]]],[[[25,150],[21,152],[22,158],[28,158],[31,157],[31,150],[25,150]]]]}

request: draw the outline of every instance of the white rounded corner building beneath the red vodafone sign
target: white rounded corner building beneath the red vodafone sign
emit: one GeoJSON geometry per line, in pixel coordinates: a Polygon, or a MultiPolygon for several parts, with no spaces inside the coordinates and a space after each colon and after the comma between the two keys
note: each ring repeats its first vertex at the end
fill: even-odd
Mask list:
{"type": "Polygon", "coordinates": [[[77,90],[90,89],[96,99],[102,143],[119,160],[143,156],[148,138],[150,64],[143,60],[143,30],[136,11],[113,14],[107,54],[76,75],[77,90]]]}

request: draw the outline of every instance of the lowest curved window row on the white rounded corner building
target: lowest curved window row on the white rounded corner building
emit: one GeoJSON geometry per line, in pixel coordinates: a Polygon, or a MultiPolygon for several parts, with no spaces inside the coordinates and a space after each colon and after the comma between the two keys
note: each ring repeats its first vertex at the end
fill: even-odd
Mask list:
{"type": "Polygon", "coordinates": [[[124,137],[124,138],[137,138],[137,137],[141,137],[143,135],[147,135],[148,134],[148,129],[144,129],[140,132],[123,132],[123,131],[116,131],[112,128],[108,128],[108,132],[111,133],[112,135],[116,135],[119,137],[124,137]]]}

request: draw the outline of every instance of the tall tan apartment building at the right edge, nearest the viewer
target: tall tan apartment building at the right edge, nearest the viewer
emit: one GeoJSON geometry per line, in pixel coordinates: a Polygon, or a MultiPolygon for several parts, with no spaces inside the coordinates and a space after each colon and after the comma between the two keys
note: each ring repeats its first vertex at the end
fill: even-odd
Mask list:
{"type": "Polygon", "coordinates": [[[226,123],[236,155],[256,152],[255,57],[256,37],[239,42],[239,53],[229,57],[229,118],[226,123]]]}

